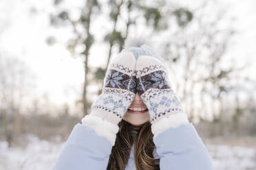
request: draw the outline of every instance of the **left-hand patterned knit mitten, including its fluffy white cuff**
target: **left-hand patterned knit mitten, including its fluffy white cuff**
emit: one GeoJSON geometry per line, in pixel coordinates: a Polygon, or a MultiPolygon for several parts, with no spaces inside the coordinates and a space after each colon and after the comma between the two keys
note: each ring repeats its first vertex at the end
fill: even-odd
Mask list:
{"type": "Polygon", "coordinates": [[[129,52],[121,52],[111,61],[104,79],[103,93],[92,104],[91,114],[82,123],[91,126],[100,136],[114,145],[118,123],[136,95],[136,59],[129,52]]]}

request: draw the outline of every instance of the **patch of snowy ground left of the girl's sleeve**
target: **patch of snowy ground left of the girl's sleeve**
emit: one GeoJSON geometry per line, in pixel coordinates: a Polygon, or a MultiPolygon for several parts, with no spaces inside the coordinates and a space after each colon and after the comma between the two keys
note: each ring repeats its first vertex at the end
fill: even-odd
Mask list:
{"type": "Polygon", "coordinates": [[[0,170],[45,170],[52,169],[64,143],[41,141],[29,136],[30,143],[21,147],[8,148],[6,141],[0,142],[0,170]]]}

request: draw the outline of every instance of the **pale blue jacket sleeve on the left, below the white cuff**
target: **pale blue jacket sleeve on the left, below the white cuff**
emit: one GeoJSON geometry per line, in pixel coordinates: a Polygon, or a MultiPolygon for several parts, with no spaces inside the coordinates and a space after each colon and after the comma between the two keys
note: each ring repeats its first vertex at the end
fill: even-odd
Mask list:
{"type": "Polygon", "coordinates": [[[107,169],[111,142],[89,125],[77,123],[52,170],[107,169]]]}

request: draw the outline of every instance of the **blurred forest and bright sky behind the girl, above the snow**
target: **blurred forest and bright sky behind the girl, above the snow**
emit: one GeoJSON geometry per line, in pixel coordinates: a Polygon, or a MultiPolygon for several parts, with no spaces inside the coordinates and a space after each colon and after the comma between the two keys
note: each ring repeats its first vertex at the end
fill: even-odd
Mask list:
{"type": "Polygon", "coordinates": [[[26,0],[18,4],[17,13],[12,12],[13,4],[0,12],[0,140],[8,148],[27,145],[25,136],[31,134],[40,140],[65,141],[101,93],[109,61],[122,50],[126,38],[134,36],[150,37],[153,49],[167,61],[173,90],[203,141],[256,141],[256,70],[250,60],[255,56],[237,48],[242,23],[229,11],[228,3],[26,0]],[[8,49],[4,36],[21,11],[22,17],[42,29],[30,34],[22,30],[29,25],[19,23],[22,38],[11,34],[7,38],[10,44],[21,46],[8,49]],[[34,34],[43,41],[31,39],[34,34]],[[34,46],[23,49],[29,40],[34,46]],[[47,49],[57,52],[45,52],[47,49]],[[33,60],[25,57],[28,54],[33,60]],[[47,62],[41,63],[36,56],[47,62]],[[38,65],[32,62],[35,60],[38,65]],[[64,94],[59,96],[60,102],[47,91],[38,93],[38,86],[50,87],[43,81],[36,83],[37,77],[46,74],[36,75],[39,72],[31,65],[55,76],[45,84],[68,82],[68,88],[52,88],[64,94]],[[76,84],[72,84],[74,80],[78,80],[76,84]]]}

